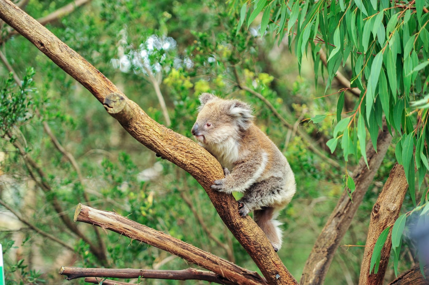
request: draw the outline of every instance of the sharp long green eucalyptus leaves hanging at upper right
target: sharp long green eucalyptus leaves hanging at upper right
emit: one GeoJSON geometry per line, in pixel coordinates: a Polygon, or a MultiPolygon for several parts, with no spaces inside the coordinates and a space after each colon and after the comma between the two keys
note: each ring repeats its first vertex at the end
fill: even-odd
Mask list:
{"type": "MultiPolygon", "coordinates": [[[[366,132],[377,150],[377,133],[385,118],[387,128],[393,128],[394,135],[400,137],[396,159],[404,166],[410,196],[416,207],[415,180],[418,180],[417,190],[420,190],[429,169],[424,147],[428,139],[429,14],[422,13],[428,3],[415,1],[400,5],[396,1],[384,0],[274,0],[269,3],[264,15],[269,15],[271,21],[262,21],[261,31],[271,26],[276,30],[279,43],[287,35],[288,45],[295,51],[300,66],[308,47],[315,69],[321,60],[317,53],[321,48],[326,50],[326,70],[322,69],[327,73],[325,91],[341,64],[350,65],[351,87],[360,90],[360,98],[351,114],[341,115],[344,95],[340,95],[337,125],[333,138],[326,143],[330,151],[334,152],[341,141],[345,161],[349,154],[355,154],[356,159],[362,156],[367,162],[366,132]]],[[[258,2],[249,13],[254,15],[262,9],[258,2]]],[[[254,21],[252,16],[249,24],[250,21],[254,21]]],[[[324,116],[316,115],[312,121],[321,122],[324,116]]],[[[399,238],[401,235],[402,231],[399,238]]],[[[400,247],[399,238],[396,237],[397,247],[400,247]]],[[[398,256],[395,257],[397,260],[398,256]]],[[[376,260],[373,255],[372,261],[376,260]]]]}

